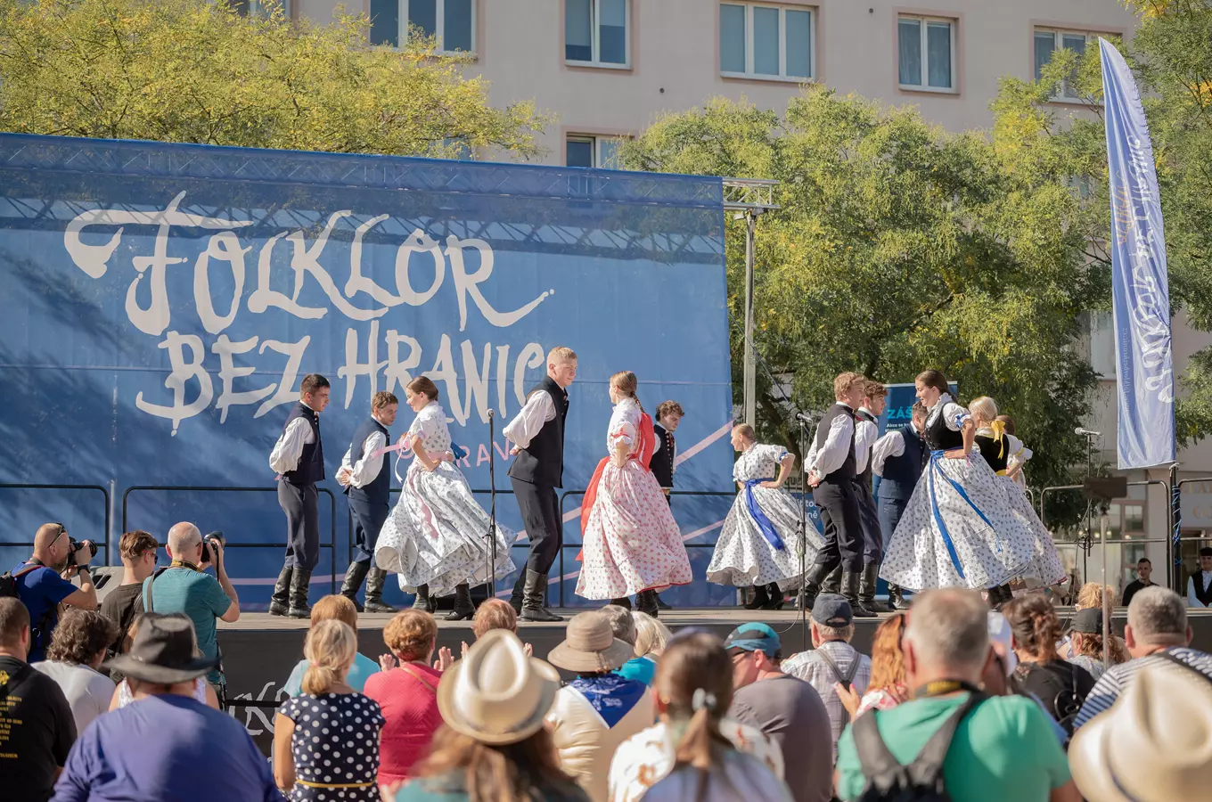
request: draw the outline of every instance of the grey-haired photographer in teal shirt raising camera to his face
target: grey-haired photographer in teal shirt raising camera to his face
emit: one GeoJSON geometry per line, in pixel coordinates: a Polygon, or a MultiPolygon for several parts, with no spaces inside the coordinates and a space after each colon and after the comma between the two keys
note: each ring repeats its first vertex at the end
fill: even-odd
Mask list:
{"type": "MultiPolygon", "coordinates": [[[[198,648],[207,659],[216,661],[219,660],[219,645],[215,619],[240,620],[240,598],[228,579],[218,534],[211,533],[204,542],[201,531],[188,521],[168,529],[165,548],[172,563],[143,582],[139,605],[139,612],[188,615],[198,634],[198,648]],[[215,566],[213,577],[204,573],[207,563],[215,566]]],[[[215,686],[215,693],[222,701],[223,666],[211,669],[206,681],[215,686]]]]}

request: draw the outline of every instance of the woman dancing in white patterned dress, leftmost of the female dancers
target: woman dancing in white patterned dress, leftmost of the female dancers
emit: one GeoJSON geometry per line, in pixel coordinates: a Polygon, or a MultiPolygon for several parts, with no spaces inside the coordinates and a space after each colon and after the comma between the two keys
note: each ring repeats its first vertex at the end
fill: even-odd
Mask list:
{"type": "MultiPolygon", "coordinates": [[[[405,397],[417,417],[400,441],[412,448],[413,460],[404,482],[400,500],[379,534],[375,562],[384,571],[400,574],[400,588],[416,592],[413,608],[434,611],[431,596],[454,592],[451,620],[475,614],[470,585],[488,580],[491,544],[490,519],[471,495],[463,471],[453,462],[439,457],[451,448],[446,411],[438,403],[438,386],[424,376],[405,388],[405,397]]],[[[509,546],[516,537],[497,526],[496,575],[503,579],[514,571],[509,546]]]]}

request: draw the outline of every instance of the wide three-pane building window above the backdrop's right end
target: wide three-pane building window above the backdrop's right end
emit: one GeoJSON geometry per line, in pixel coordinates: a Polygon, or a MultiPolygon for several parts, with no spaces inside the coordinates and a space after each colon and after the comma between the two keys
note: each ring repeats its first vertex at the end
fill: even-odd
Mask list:
{"type": "Polygon", "coordinates": [[[720,73],[732,78],[812,78],[812,10],[720,4],[720,73]]]}

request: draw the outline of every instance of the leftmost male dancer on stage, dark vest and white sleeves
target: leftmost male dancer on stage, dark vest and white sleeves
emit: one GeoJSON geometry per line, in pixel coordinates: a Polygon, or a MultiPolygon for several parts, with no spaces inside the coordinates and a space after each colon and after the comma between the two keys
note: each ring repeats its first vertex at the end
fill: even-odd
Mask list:
{"type": "Polygon", "coordinates": [[[278,503],[286,512],[286,563],[269,600],[270,615],[311,615],[307,592],[311,585],[311,571],[320,560],[320,511],[315,483],[324,481],[320,413],[328,406],[328,379],[319,373],[303,377],[301,400],[291,407],[282,435],[269,453],[269,466],[278,471],[280,480],[278,503]]]}

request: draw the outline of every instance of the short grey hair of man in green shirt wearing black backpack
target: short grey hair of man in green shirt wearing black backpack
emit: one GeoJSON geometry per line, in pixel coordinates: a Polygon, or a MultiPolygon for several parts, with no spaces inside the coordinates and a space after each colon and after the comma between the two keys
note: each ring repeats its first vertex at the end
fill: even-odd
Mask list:
{"type": "Polygon", "coordinates": [[[964,588],[917,594],[905,640],[926,663],[981,669],[989,657],[989,607],[964,588]]]}

